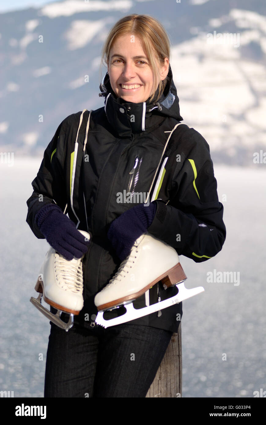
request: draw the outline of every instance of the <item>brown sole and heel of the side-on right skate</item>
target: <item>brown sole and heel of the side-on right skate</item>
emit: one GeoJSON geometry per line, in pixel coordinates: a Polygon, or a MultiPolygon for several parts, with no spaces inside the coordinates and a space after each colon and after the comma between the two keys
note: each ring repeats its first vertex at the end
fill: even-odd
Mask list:
{"type": "MultiPolygon", "coordinates": [[[[127,301],[136,300],[136,298],[143,295],[148,289],[152,288],[159,280],[163,284],[164,288],[170,288],[170,286],[175,286],[178,283],[184,282],[187,279],[184,270],[180,263],[175,264],[171,269],[167,272],[163,273],[161,276],[158,276],[155,280],[150,282],[147,286],[141,289],[139,292],[135,292],[135,294],[127,295],[127,297],[119,298],[118,300],[110,301],[110,303],[102,304],[98,306],[98,311],[108,310],[112,307],[119,306],[120,304],[125,304],[127,301]]],[[[165,289],[166,289],[165,288],[165,289]]]]}

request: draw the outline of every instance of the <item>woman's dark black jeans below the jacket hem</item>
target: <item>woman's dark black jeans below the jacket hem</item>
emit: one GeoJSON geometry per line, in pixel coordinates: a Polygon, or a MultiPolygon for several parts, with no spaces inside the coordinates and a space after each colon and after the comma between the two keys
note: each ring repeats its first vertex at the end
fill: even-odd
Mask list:
{"type": "Polygon", "coordinates": [[[123,323],[51,324],[44,397],[146,397],[173,332],[123,323]]]}

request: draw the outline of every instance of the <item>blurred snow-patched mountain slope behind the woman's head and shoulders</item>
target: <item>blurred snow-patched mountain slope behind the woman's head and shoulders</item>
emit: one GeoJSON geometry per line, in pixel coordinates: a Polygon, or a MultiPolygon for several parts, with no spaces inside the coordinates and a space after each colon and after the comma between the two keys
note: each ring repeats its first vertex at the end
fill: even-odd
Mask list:
{"type": "Polygon", "coordinates": [[[0,14],[0,151],[42,156],[66,116],[104,105],[102,45],[131,13],[167,30],[181,116],[213,161],[253,167],[266,152],[264,0],[66,0],[0,14]]]}

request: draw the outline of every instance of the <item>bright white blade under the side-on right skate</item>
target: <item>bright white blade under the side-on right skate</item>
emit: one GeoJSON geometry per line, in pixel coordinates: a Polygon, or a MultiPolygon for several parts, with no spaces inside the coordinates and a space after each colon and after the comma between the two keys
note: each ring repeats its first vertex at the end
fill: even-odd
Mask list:
{"type": "Polygon", "coordinates": [[[114,317],[113,319],[105,320],[103,318],[104,312],[98,312],[95,323],[104,328],[109,326],[120,325],[121,323],[130,322],[130,320],[138,319],[139,317],[147,316],[147,314],[158,312],[159,310],[165,309],[167,307],[173,306],[173,304],[178,304],[181,301],[187,300],[194,295],[198,295],[201,292],[204,292],[203,286],[198,286],[197,288],[187,289],[184,286],[184,282],[176,285],[178,288],[178,294],[174,297],[168,298],[167,300],[159,301],[156,304],[151,306],[143,307],[142,309],[135,309],[133,303],[124,305],[127,312],[119,317],[114,317]]]}

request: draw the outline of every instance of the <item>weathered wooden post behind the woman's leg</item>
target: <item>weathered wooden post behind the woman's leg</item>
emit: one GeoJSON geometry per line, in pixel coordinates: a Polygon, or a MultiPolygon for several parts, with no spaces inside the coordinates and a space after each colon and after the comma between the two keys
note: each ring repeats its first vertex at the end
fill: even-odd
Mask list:
{"type": "Polygon", "coordinates": [[[182,397],[181,322],[174,333],[146,397],[182,397]]]}

